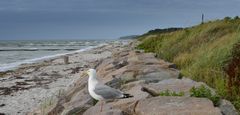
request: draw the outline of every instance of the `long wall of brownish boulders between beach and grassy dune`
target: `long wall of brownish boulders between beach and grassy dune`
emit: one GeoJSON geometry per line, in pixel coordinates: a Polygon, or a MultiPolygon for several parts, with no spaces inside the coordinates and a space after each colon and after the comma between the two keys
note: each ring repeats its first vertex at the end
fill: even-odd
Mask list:
{"type": "Polygon", "coordinates": [[[54,110],[61,115],[221,115],[221,111],[223,114],[235,112],[230,102],[223,101],[220,110],[207,98],[190,97],[192,87],[208,86],[187,78],[178,79],[180,72],[175,64],[159,60],[153,53],[128,48],[106,47],[112,57],[94,61],[91,67],[96,67],[97,76],[103,83],[134,97],[108,100],[100,112],[101,102],[95,104],[87,91],[87,77],[80,78],[52,113],[54,110]],[[184,92],[185,95],[159,96],[166,90],[184,92]]]}

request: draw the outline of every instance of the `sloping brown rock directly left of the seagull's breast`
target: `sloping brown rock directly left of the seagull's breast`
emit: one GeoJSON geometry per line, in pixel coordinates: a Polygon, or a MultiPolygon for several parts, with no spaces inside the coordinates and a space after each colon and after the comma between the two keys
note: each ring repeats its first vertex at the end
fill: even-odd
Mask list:
{"type": "Polygon", "coordinates": [[[57,104],[48,112],[48,114],[81,114],[93,106],[93,99],[90,97],[86,86],[87,77],[80,78],[73,87],[59,97],[57,104]]]}

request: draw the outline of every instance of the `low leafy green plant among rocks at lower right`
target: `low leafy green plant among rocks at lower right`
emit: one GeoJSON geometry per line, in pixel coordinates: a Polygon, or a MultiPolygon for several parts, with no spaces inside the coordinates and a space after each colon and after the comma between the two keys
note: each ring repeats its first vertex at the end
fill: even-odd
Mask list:
{"type": "Polygon", "coordinates": [[[214,106],[218,106],[220,103],[220,97],[218,95],[213,95],[211,90],[204,85],[201,85],[200,87],[193,87],[190,90],[190,96],[208,98],[213,102],[214,106]]]}

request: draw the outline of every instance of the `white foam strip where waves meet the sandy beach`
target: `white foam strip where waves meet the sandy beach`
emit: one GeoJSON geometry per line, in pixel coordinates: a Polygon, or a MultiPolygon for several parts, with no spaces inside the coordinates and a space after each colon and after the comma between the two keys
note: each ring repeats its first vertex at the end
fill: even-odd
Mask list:
{"type": "Polygon", "coordinates": [[[15,69],[18,66],[20,66],[21,64],[30,64],[30,63],[34,63],[34,62],[41,61],[41,60],[46,60],[46,59],[56,58],[56,57],[59,57],[59,56],[64,56],[64,55],[67,55],[67,54],[79,53],[79,52],[87,51],[87,50],[90,50],[90,49],[93,49],[93,48],[101,47],[103,45],[106,45],[106,43],[103,43],[103,44],[100,44],[100,45],[97,45],[97,46],[89,46],[89,47],[86,47],[84,49],[80,49],[80,50],[76,50],[76,51],[68,52],[68,53],[55,54],[55,55],[43,56],[43,57],[39,57],[39,58],[27,59],[27,60],[23,60],[21,62],[0,64],[0,72],[15,69]]]}

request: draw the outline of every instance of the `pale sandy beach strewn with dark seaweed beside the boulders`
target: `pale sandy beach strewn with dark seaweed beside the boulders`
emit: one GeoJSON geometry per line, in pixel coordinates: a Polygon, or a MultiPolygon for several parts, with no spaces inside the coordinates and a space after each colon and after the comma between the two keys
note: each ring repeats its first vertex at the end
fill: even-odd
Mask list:
{"type": "Polygon", "coordinates": [[[82,71],[93,68],[99,61],[111,56],[113,50],[122,46],[121,42],[116,42],[68,54],[69,64],[65,64],[61,56],[2,72],[0,113],[24,115],[35,108],[41,108],[49,99],[54,101],[62,92],[74,86],[82,71]]]}

